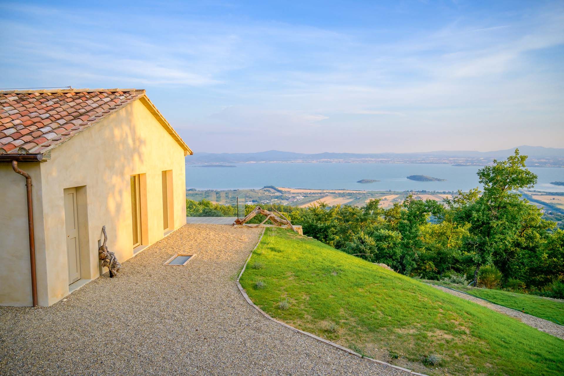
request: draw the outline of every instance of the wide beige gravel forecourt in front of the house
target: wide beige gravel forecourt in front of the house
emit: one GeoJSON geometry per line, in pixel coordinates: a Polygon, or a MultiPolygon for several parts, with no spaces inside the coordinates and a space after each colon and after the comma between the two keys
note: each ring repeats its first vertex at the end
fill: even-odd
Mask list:
{"type": "Polygon", "coordinates": [[[265,319],[235,278],[261,229],[186,225],[51,307],[0,307],[0,374],[404,375],[265,319]],[[163,266],[195,253],[186,266],[163,266]]]}

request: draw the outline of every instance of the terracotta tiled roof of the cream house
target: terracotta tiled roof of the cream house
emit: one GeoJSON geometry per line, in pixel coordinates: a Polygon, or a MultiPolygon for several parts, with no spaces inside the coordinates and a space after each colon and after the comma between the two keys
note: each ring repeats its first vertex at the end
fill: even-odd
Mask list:
{"type": "Polygon", "coordinates": [[[144,90],[67,89],[0,91],[0,154],[43,154],[67,141],[136,99],[144,98],[149,110],[169,134],[190,148],[148,100],[144,90]]]}

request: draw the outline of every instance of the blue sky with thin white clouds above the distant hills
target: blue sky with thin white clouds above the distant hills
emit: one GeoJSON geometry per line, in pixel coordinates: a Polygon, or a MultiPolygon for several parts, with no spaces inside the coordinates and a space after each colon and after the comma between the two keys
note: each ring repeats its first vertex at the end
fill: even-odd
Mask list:
{"type": "Polygon", "coordinates": [[[564,147],[564,1],[0,1],[0,23],[0,88],[146,89],[195,152],[564,147]]]}

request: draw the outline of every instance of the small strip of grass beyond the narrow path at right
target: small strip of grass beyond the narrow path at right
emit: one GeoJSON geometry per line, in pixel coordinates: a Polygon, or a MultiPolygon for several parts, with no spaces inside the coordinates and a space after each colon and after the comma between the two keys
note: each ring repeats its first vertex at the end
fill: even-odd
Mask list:
{"type": "Polygon", "coordinates": [[[451,289],[464,291],[475,297],[490,300],[490,302],[501,306],[525,311],[529,315],[540,317],[541,319],[564,324],[564,302],[557,300],[537,297],[536,295],[510,293],[509,291],[481,289],[479,287],[469,287],[456,285],[448,282],[426,281],[434,285],[451,287],[451,289]]]}

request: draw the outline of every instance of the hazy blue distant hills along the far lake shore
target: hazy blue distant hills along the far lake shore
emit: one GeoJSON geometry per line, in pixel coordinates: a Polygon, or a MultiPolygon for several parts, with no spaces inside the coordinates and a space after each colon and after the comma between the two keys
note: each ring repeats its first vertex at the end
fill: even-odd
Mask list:
{"type": "MultiPolygon", "coordinates": [[[[521,154],[531,165],[564,166],[564,149],[522,145],[521,154]]],[[[434,151],[418,153],[293,153],[276,150],[258,153],[197,153],[186,157],[187,163],[248,163],[248,162],[395,162],[448,163],[451,165],[484,165],[494,158],[503,159],[515,148],[491,152],[434,151]]]]}

